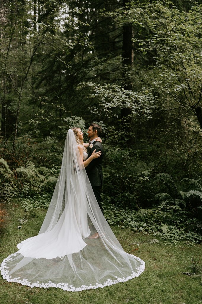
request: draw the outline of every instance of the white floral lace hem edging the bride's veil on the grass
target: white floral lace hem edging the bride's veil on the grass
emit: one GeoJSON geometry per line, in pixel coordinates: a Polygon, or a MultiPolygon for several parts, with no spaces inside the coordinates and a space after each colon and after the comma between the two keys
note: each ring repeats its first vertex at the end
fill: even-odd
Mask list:
{"type": "Polygon", "coordinates": [[[68,283],[58,283],[58,284],[55,284],[52,281],[48,281],[48,283],[39,283],[39,282],[31,283],[26,278],[24,278],[23,280],[20,280],[19,279],[20,277],[18,277],[18,278],[11,278],[11,276],[8,275],[9,271],[7,270],[8,267],[7,267],[6,262],[10,261],[12,259],[12,256],[15,256],[18,253],[20,253],[20,252],[16,251],[15,253],[10,254],[0,264],[0,271],[1,271],[2,277],[6,281],[8,281],[8,282],[20,283],[22,285],[27,285],[27,286],[29,286],[31,288],[33,288],[33,287],[40,287],[40,288],[55,287],[55,288],[61,288],[61,289],[65,290],[65,291],[82,291],[82,290],[88,290],[88,289],[96,289],[96,288],[99,288],[99,287],[103,288],[105,286],[114,285],[114,284],[119,283],[119,282],[126,282],[128,280],[132,280],[135,277],[139,277],[139,275],[141,275],[141,273],[144,271],[144,268],[145,268],[145,262],[143,260],[141,260],[141,258],[136,257],[133,254],[128,254],[131,257],[134,257],[136,260],[140,261],[141,265],[138,268],[136,268],[136,272],[133,271],[132,274],[130,276],[127,276],[126,278],[125,277],[123,277],[123,278],[116,277],[117,278],[116,280],[108,279],[103,284],[96,283],[95,285],[91,285],[90,284],[89,286],[81,285],[81,287],[74,287],[72,285],[69,285],[68,283]]]}

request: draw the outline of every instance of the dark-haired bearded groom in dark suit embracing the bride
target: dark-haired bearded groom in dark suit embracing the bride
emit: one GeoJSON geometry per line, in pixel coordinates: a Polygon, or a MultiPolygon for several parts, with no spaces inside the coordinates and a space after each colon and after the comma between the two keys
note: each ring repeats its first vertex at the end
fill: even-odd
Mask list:
{"type": "MultiPolygon", "coordinates": [[[[95,139],[100,137],[102,132],[101,126],[97,125],[96,123],[91,123],[88,128],[88,138],[90,138],[90,145],[88,147],[88,157],[91,156],[93,151],[96,149],[95,152],[101,151],[102,154],[98,158],[94,158],[90,164],[86,167],[86,173],[88,175],[89,181],[93,188],[93,192],[95,198],[97,199],[98,205],[101,209],[102,214],[104,215],[102,205],[101,205],[101,188],[103,185],[103,175],[102,175],[102,159],[104,156],[104,149],[102,144],[95,139]]],[[[93,238],[90,237],[90,238],[93,238]]]]}

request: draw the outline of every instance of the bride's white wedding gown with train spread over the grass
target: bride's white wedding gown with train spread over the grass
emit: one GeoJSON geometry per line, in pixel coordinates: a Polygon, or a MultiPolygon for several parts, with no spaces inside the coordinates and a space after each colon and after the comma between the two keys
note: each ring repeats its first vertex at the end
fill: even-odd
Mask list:
{"type": "MultiPolygon", "coordinates": [[[[84,151],[84,160],[88,154],[84,151]]],[[[24,257],[52,259],[64,257],[67,254],[79,252],[87,244],[84,238],[90,236],[88,226],[86,200],[82,200],[82,194],[79,187],[74,183],[77,196],[71,198],[71,204],[65,206],[56,225],[53,229],[38,234],[36,237],[30,237],[17,245],[20,253],[24,257]],[[68,224],[68,229],[66,223],[68,224]],[[65,243],[64,243],[65,240],[65,243]]],[[[74,195],[72,193],[72,195],[74,195]]]]}

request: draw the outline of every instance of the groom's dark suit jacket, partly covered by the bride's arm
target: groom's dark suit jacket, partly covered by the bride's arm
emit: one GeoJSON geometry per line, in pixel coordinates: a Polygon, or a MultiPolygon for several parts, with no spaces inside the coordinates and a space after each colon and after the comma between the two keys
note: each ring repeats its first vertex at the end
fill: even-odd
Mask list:
{"type": "Polygon", "coordinates": [[[102,159],[104,156],[104,149],[101,143],[99,143],[98,141],[94,141],[93,147],[88,150],[88,157],[91,156],[95,149],[95,152],[102,152],[101,156],[98,158],[94,158],[90,162],[90,164],[85,168],[92,187],[103,185],[102,159]]]}

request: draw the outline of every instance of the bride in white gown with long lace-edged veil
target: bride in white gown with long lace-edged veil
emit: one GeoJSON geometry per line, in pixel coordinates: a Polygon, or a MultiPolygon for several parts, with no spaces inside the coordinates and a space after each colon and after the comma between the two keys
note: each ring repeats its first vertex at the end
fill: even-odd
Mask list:
{"type": "Polygon", "coordinates": [[[125,282],[144,271],[144,261],[124,252],[98,206],[85,167],[101,154],[87,159],[81,133],[68,130],[60,174],[38,235],[19,243],[19,250],[1,264],[8,282],[81,291],[125,282]],[[100,238],[90,239],[95,232],[100,238]]]}

